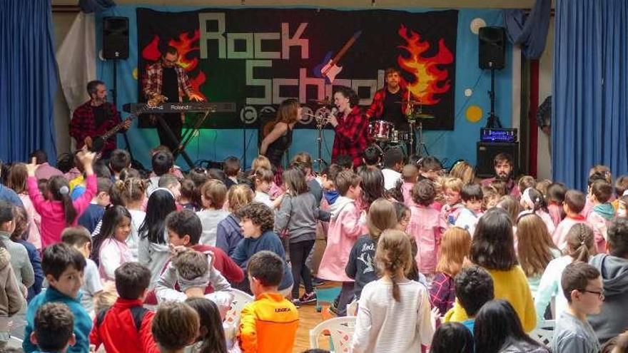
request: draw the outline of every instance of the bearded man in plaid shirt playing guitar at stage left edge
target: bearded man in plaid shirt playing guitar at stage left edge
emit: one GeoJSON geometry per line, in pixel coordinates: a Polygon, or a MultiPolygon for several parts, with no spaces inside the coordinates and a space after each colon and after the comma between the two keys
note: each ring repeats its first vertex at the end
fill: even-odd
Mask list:
{"type": "MultiPolygon", "coordinates": [[[[112,103],[107,101],[107,87],[103,81],[87,83],[89,101],[78,106],[70,121],[70,135],[76,140],[76,148],[91,148],[93,138],[103,135],[109,129],[121,122],[120,113],[112,103]]],[[[131,121],[126,121],[124,129],[131,127],[131,121]]],[[[116,149],[116,138],[105,141],[102,149],[102,158],[108,160],[111,151],[116,149]]]]}

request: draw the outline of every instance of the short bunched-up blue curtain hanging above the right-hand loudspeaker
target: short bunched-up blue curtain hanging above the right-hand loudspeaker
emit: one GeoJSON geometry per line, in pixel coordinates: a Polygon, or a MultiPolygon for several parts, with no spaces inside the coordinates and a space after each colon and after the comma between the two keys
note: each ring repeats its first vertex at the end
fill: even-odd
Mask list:
{"type": "Polygon", "coordinates": [[[529,15],[521,9],[504,10],[508,39],[512,44],[521,44],[521,52],[526,58],[540,58],[545,50],[551,5],[550,0],[536,0],[529,15]]]}

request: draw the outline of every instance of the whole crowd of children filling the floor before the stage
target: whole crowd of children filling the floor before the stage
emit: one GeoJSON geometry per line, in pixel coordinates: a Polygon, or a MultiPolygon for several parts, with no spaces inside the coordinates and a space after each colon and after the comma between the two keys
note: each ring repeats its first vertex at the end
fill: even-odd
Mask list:
{"type": "Polygon", "coordinates": [[[34,153],[0,175],[0,316],[26,311],[29,353],[292,352],[331,281],[353,352],[624,352],[628,177],[596,166],[583,192],[515,180],[505,154],[478,180],[465,161],[364,153],[318,175],[298,153],[185,177],[167,148],[151,174],[123,150],[59,173],[34,153]],[[254,300],[234,340],[237,290],[254,300]],[[546,347],[529,334],[550,319],[546,347]]]}

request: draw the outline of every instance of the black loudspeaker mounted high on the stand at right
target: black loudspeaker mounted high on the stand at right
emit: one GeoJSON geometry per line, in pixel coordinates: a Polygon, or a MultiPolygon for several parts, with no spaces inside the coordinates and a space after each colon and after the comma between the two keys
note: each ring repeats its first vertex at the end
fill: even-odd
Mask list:
{"type": "Polygon", "coordinates": [[[480,68],[506,67],[506,30],[504,27],[480,27],[477,35],[480,68]]]}

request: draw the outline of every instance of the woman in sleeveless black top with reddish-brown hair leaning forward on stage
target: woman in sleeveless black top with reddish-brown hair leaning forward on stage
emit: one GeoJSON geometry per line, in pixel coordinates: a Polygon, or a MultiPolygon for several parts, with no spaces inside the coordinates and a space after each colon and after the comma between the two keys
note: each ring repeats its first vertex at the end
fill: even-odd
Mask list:
{"type": "Polygon", "coordinates": [[[281,158],[292,143],[292,131],[301,116],[301,106],[294,98],[281,102],[277,110],[277,118],[269,121],[262,129],[263,140],[260,144],[260,155],[265,155],[281,175],[281,158]]]}

